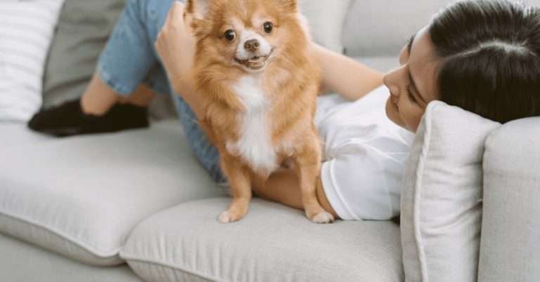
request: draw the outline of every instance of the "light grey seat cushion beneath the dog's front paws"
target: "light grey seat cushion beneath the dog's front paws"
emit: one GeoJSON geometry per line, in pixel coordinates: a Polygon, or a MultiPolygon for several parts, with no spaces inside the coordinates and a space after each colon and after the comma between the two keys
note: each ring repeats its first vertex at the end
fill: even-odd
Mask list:
{"type": "Polygon", "coordinates": [[[147,281],[402,281],[392,222],[314,224],[301,210],[253,199],[239,222],[231,199],[183,203],[141,223],[120,255],[147,281]]]}

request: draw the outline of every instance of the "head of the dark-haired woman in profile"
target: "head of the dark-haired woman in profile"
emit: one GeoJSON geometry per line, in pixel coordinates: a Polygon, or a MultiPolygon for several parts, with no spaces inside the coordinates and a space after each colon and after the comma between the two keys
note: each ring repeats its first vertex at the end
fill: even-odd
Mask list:
{"type": "Polygon", "coordinates": [[[432,100],[499,122],[540,115],[540,10],[458,1],[435,15],[385,76],[387,114],[415,131],[432,100]]]}

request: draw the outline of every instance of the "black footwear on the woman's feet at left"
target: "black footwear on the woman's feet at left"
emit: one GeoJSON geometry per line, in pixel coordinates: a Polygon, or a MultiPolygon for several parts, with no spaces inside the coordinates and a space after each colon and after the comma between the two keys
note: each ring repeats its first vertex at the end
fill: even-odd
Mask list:
{"type": "Polygon", "coordinates": [[[77,99],[41,110],[28,122],[28,127],[41,133],[66,137],[146,128],[148,117],[146,107],[120,104],[114,105],[103,116],[84,114],[77,99]]]}

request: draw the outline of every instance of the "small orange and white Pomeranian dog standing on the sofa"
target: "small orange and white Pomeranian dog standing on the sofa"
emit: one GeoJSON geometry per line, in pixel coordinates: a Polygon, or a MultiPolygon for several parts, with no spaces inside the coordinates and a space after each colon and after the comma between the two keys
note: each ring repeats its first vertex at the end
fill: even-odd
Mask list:
{"type": "Polygon", "coordinates": [[[320,70],[297,0],[188,0],[201,126],[216,145],[233,197],[219,222],[248,213],[252,184],[292,163],[313,222],[332,222],[316,196],[321,141],[313,123],[320,70]]]}

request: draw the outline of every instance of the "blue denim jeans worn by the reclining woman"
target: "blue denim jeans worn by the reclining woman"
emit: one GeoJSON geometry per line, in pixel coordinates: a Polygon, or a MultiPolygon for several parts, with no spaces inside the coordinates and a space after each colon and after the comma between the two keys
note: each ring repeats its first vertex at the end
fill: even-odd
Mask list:
{"type": "Polygon", "coordinates": [[[154,48],[175,0],[129,0],[98,61],[101,80],[120,95],[147,83],[157,93],[172,95],[176,112],[193,153],[216,182],[224,182],[219,153],[198,125],[195,114],[174,93],[154,48]]]}

